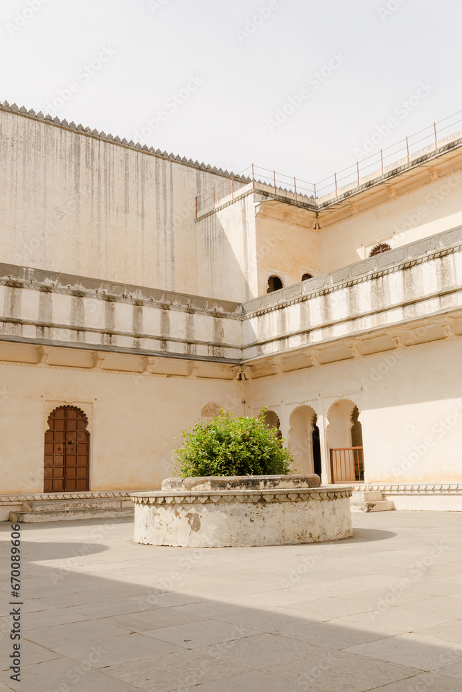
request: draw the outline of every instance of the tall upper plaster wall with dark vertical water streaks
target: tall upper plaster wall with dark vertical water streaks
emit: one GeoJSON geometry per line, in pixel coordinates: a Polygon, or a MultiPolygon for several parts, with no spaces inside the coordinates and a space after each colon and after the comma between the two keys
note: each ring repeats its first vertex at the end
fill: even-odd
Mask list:
{"type": "Polygon", "coordinates": [[[0,157],[3,262],[199,292],[195,196],[221,176],[6,111],[0,157]]]}

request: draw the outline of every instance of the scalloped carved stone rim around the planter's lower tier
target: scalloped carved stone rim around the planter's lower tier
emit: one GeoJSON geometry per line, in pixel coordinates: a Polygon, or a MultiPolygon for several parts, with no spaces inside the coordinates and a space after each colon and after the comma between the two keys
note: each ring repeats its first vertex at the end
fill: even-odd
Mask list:
{"type": "Polygon", "coordinates": [[[350,498],[350,486],[321,486],[319,488],[271,489],[271,490],[222,490],[222,491],[154,491],[152,493],[132,493],[135,504],[220,504],[256,502],[310,502],[311,500],[337,500],[350,498]]]}

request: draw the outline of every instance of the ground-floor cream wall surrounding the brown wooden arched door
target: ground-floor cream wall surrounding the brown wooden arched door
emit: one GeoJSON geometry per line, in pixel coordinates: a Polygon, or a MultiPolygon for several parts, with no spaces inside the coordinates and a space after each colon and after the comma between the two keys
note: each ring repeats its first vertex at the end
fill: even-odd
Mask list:
{"type": "Polygon", "coordinates": [[[0,383],[0,493],[43,492],[46,420],[65,403],[89,418],[93,491],[160,488],[175,436],[208,401],[242,415],[233,380],[0,364],[0,383]]]}

